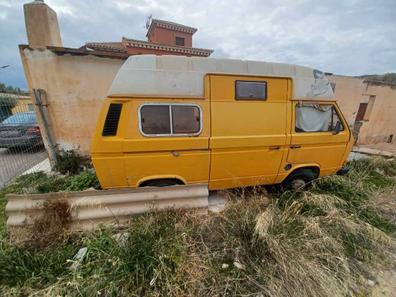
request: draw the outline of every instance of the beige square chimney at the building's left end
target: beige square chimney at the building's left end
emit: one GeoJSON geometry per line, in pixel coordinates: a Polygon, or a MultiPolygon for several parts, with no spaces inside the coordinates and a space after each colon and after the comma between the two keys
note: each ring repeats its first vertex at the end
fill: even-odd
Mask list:
{"type": "Polygon", "coordinates": [[[24,4],[23,10],[31,47],[63,46],[56,12],[44,0],[24,4]]]}

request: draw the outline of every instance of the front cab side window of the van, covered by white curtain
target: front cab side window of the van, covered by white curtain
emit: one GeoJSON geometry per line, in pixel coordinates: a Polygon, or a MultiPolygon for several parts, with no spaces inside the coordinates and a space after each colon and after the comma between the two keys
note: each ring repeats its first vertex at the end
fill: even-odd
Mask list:
{"type": "Polygon", "coordinates": [[[298,103],[296,105],[296,132],[343,131],[344,126],[332,104],[298,103]]]}

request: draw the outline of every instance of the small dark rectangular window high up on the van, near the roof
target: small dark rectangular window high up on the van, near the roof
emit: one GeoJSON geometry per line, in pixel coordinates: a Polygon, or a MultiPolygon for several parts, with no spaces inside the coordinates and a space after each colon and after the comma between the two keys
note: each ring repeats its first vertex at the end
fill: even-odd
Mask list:
{"type": "Polygon", "coordinates": [[[235,81],[235,99],[237,100],[266,100],[266,81],[235,81]]]}

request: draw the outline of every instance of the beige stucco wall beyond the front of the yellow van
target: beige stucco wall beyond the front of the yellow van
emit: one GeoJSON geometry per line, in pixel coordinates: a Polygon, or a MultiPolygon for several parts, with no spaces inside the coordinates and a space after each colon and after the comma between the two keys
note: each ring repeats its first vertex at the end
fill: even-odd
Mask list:
{"type": "Polygon", "coordinates": [[[360,103],[368,103],[370,95],[375,96],[369,119],[360,129],[358,144],[386,142],[392,134],[396,138],[396,88],[375,86],[347,76],[328,76],[328,79],[335,83],[338,104],[351,127],[360,103]]]}

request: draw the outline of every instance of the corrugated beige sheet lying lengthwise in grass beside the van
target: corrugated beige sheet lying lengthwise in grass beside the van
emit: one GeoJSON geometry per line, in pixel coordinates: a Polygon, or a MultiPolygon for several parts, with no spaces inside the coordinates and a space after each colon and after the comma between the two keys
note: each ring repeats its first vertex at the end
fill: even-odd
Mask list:
{"type": "Polygon", "coordinates": [[[189,185],[133,190],[8,194],[7,225],[26,227],[42,216],[45,201],[66,200],[71,209],[71,230],[90,230],[99,224],[124,224],[132,215],[165,209],[207,211],[208,186],[189,185]]]}

